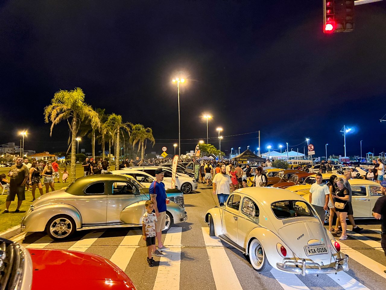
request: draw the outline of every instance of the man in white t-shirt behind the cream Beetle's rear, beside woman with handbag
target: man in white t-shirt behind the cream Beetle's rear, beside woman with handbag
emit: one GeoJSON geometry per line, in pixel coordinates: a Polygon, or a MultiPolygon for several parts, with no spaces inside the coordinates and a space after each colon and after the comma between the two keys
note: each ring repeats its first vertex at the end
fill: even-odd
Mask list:
{"type": "Polygon", "coordinates": [[[325,210],[328,208],[328,199],[330,190],[328,186],[323,183],[322,174],[317,173],[315,176],[316,182],[312,184],[310,189],[310,203],[315,208],[320,220],[324,222],[325,210]]]}

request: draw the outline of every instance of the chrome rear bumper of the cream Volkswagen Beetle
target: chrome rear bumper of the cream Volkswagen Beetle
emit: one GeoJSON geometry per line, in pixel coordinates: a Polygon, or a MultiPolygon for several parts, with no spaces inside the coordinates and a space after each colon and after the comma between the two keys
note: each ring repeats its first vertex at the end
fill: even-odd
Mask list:
{"type": "Polygon", "coordinates": [[[279,270],[294,274],[330,274],[339,271],[349,270],[349,256],[344,255],[342,259],[336,259],[334,267],[322,268],[318,263],[307,263],[305,259],[301,262],[296,261],[285,261],[284,263],[276,263],[279,270]],[[317,268],[306,268],[306,267],[317,267],[317,268]]]}

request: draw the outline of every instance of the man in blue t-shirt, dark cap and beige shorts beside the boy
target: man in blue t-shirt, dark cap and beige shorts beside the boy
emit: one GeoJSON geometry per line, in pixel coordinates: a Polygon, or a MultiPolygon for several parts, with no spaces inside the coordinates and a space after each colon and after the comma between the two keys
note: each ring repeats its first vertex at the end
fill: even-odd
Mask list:
{"type": "MultiPolygon", "coordinates": [[[[150,199],[154,204],[154,212],[156,213],[156,237],[158,243],[157,251],[169,250],[162,244],[162,230],[166,225],[166,190],[164,180],[164,173],[161,168],[157,168],[155,171],[156,180],[151,183],[149,188],[150,199]]],[[[156,252],[157,252],[156,251],[156,252]]]]}

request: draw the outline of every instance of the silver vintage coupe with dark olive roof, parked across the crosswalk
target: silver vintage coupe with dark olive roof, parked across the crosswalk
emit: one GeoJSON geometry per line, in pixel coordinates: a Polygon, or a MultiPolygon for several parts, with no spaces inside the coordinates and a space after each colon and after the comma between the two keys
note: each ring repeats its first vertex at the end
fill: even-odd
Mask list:
{"type": "MultiPolygon", "coordinates": [[[[183,193],[167,189],[170,199],[166,228],[185,222],[183,193]]],[[[67,188],[37,198],[21,222],[23,232],[42,232],[56,240],[67,239],[77,230],[140,227],[149,189],[134,178],[115,174],[80,177],[67,188]]]]}

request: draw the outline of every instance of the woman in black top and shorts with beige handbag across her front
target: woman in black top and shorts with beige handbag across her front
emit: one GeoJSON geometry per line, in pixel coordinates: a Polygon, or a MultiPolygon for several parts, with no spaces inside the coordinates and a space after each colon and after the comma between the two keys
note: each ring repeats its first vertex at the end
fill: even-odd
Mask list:
{"type": "Polygon", "coordinates": [[[344,180],[339,178],[337,180],[337,191],[333,194],[334,196],[334,206],[337,215],[339,215],[340,225],[342,226],[342,235],[339,237],[340,240],[347,239],[347,212],[349,211],[349,205],[347,201],[350,199],[349,190],[344,187],[344,180]]]}

